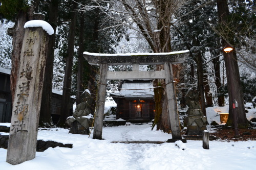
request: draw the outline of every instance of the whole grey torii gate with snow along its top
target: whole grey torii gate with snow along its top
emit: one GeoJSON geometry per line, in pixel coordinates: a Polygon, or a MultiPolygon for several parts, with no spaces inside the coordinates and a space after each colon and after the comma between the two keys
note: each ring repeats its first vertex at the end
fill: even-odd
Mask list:
{"type": "Polygon", "coordinates": [[[100,79],[94,115],[94,139],[102,139],[103,114],[107,80],[165,79],[167,107],[173,139],[181,139],[180,119],[177,110],[172,64],[183,63],[189,51],[143,54],[98,54],[84,52],[83,57],[91,65],[100,66],[100,79]],[[139,65],[164,65],[160,71],[139,71],[139,65]],[[133,65],[132,71],[108,71],[109,65],[133,65]]]}

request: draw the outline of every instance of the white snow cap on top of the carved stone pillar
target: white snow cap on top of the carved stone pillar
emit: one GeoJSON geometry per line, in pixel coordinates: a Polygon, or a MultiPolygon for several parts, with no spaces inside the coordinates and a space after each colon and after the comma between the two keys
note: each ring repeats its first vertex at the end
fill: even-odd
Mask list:
{"type": "Polygon", "coordinates": [[[29,28],[29,27],[41,27],[44,29],[49,35],[52,35],[54,33],[54,30],[52,26],[44,21],[44,20],[30,20],[25,23],[24,28],[29,28]]]}

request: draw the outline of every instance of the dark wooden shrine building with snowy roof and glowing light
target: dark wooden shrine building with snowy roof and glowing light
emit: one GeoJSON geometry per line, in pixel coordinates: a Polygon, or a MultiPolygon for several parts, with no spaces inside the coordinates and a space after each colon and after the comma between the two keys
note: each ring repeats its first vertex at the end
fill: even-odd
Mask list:
{"type": "Polygon", "coordinates": [[[124,81],[123,84],[125,89],[111,94],[117,104],[117,119],[122,118],[131,123],[145,123],[154,119],[155,101],[152,82],[142,80],[124,81]],[[132,89],[127,89],[129,87],[132,89]],[[139,90],[133,89],[134,87],[139,90]],[[129,91],[129,94],[125,93],[125,91],[129,91]]]}

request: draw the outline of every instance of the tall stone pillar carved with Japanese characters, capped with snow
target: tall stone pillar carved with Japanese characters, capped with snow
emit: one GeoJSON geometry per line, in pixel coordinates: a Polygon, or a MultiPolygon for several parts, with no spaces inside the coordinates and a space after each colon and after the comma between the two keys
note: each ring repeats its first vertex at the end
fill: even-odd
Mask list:
{"type": "Polygon", "coordinates": [[[13,165],[35,158],[48,39],[54,33],[43,20],[28,21],[24,28],[6,159],[13,165]]]}

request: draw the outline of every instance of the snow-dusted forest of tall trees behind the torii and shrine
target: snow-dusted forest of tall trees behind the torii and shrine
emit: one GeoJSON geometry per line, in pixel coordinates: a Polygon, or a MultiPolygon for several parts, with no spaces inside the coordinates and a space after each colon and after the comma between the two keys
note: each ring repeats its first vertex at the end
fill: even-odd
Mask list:
{"type": "MultiPolygon", "coordinates": [[[[89,89],[95,100],[98,67],[83,59],[84,51],[115,54],[189,50],[185,63],[174,66],[178,103],[181,108],[186,107],[184,95],[189,88],[196,87],[205,113],[205,107],[230,104],[222,52],[228,43],[236,47],[234,58],[239,70],[234,74],[240,78],[242,88],[238,93],[243,95],[243,102],[255,106],[255,1],[0,0],[0,5],[0,67],[12,69],[13,82],[21,49],[18,41],[23,39],[24,31],[20,23],[32,20],[37,12],[45,14],[45,20],[55,30],[49,41],[40,126],[54,126],[49,92],[52,88],[63,91],[59,127],[65,126],[69,116],[66,103],[70,95],[75,95],[79,104],[82,91],[89,89]],[[221,6],[227,9],[222,14],[221,6]]],[[[110,69],[131,70],[132,66],[110,69]]],[[[108,85],[118,87],[120,82],[109,81],[108,85]]],[[[12,90],[14,87],[15,84],[12,90]]],[[[163,91],[155,91],[156,98],[163,99],[163,105],[157,106],[160,114],[156,114],[155,124],[167,132],[170,128],[162,114],[166,112],[163,91]]],[[[92,112],[93,108],[95,104],[92,112]]]]}

